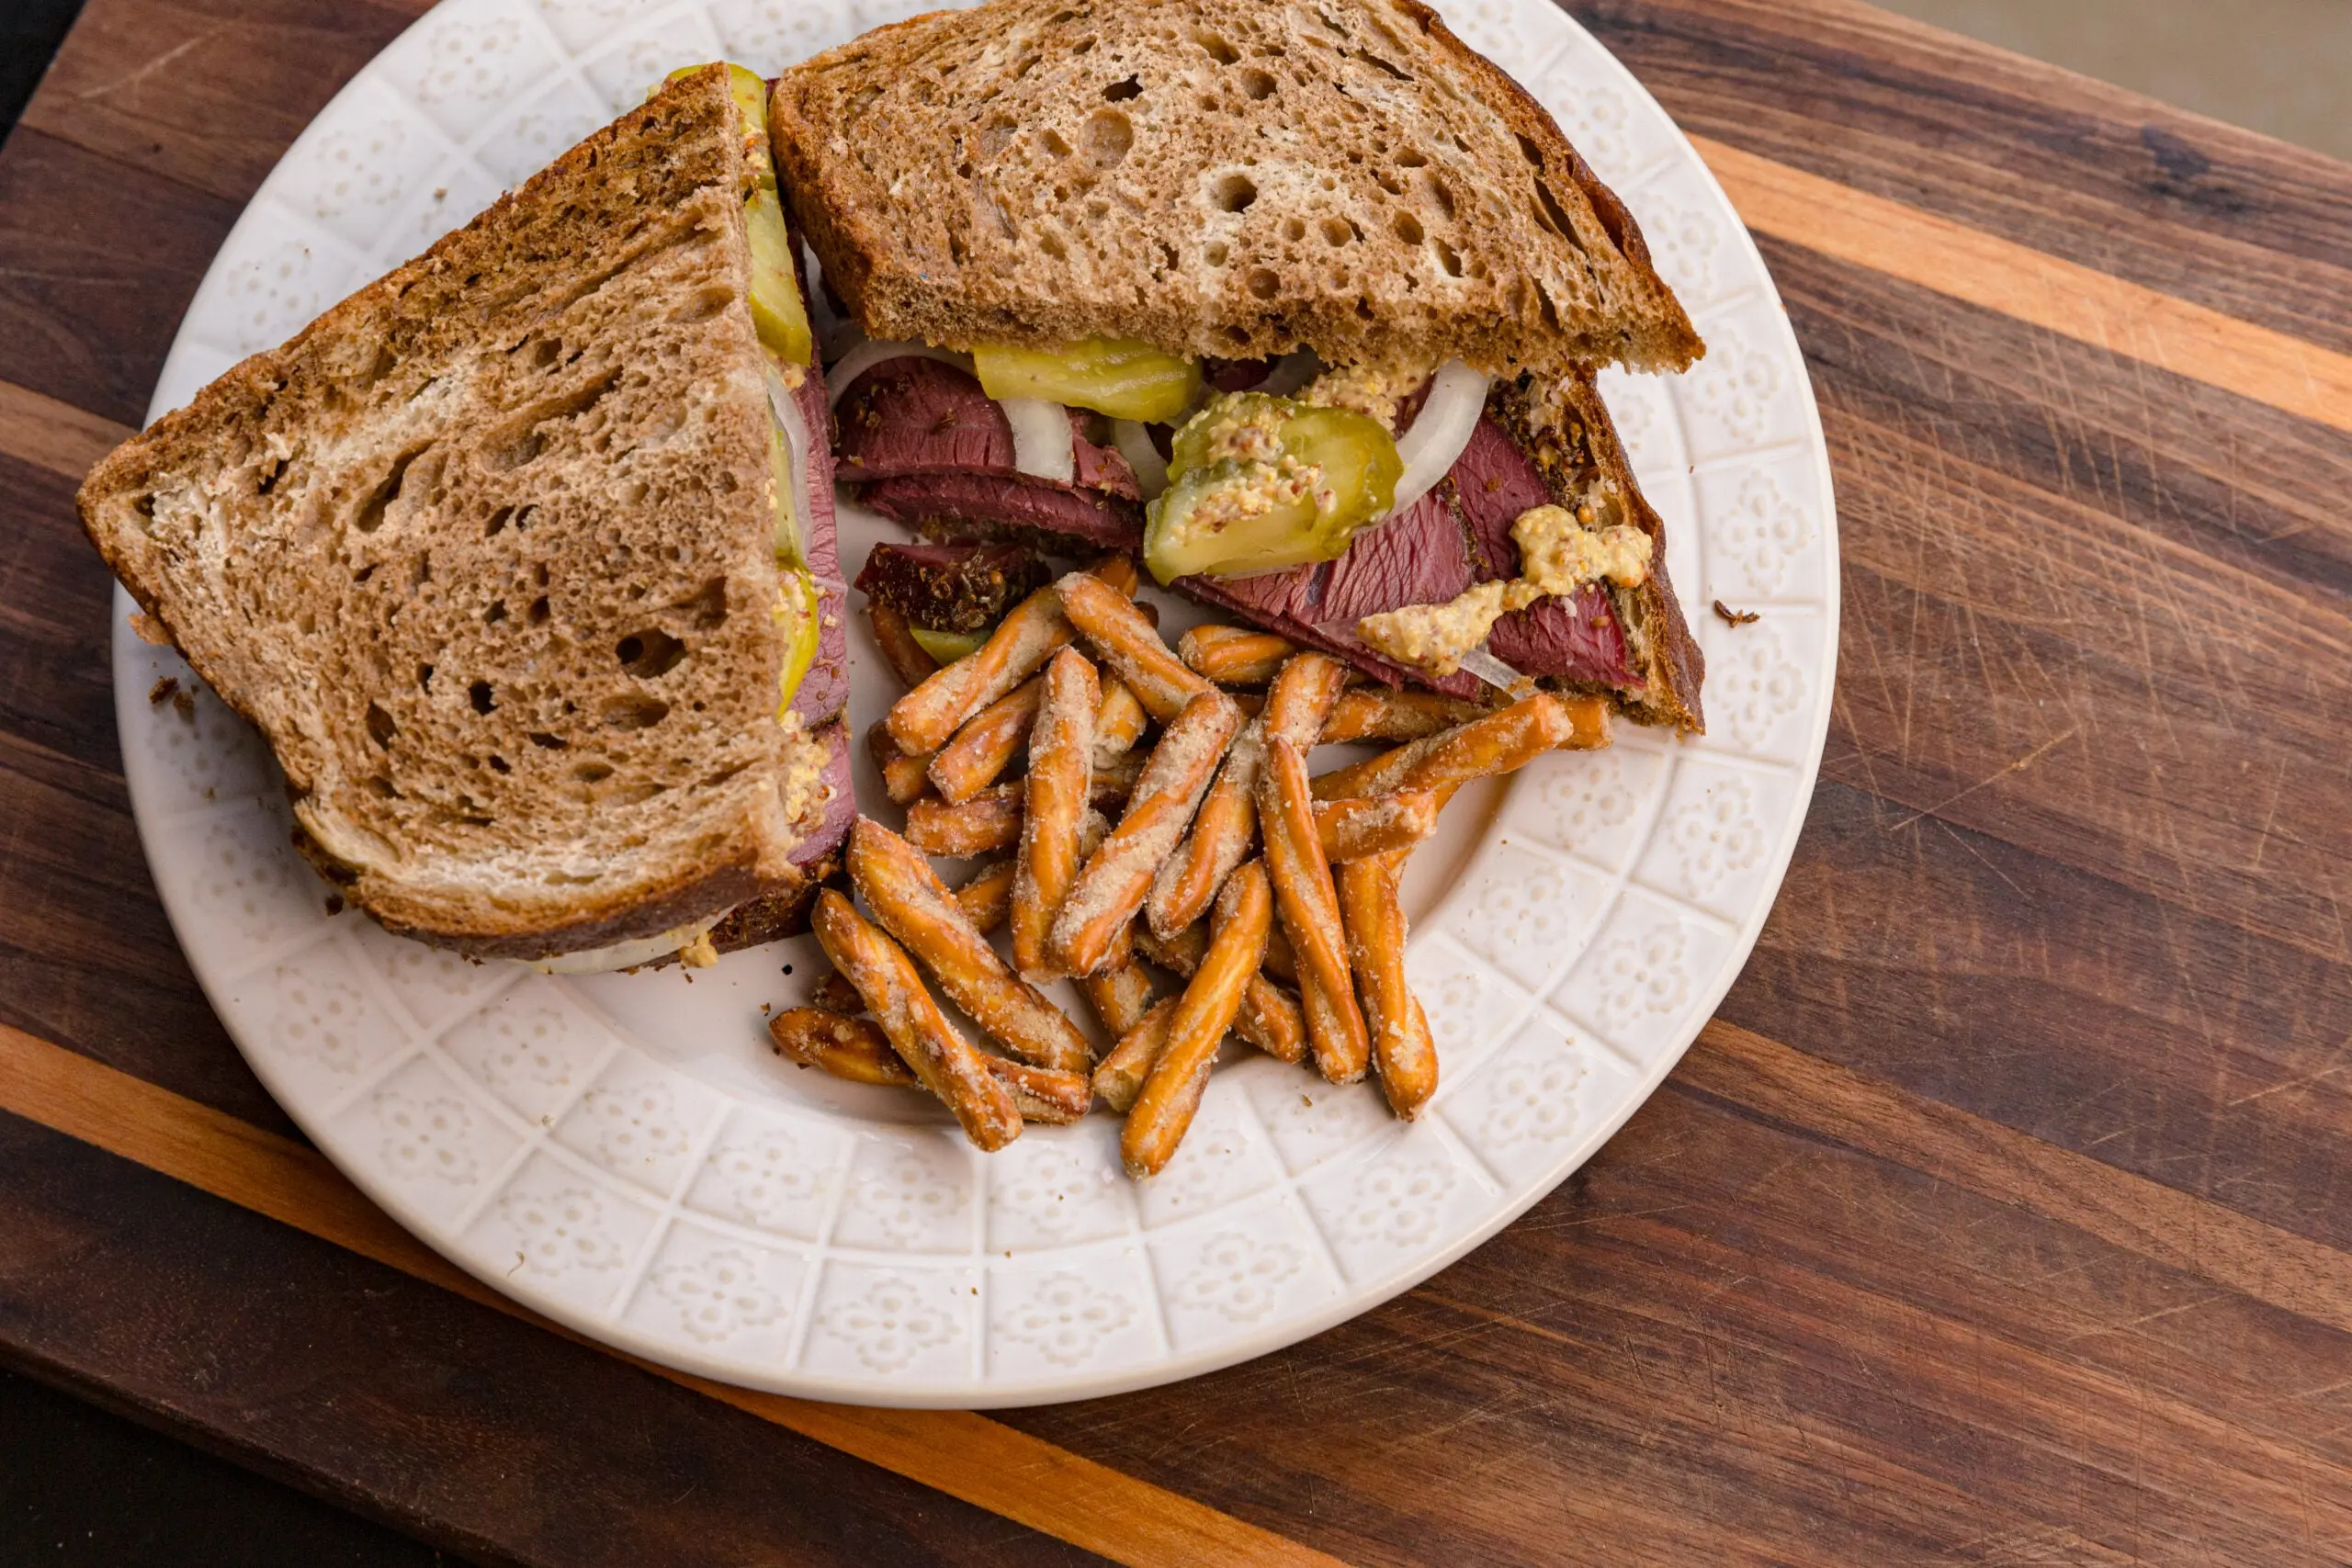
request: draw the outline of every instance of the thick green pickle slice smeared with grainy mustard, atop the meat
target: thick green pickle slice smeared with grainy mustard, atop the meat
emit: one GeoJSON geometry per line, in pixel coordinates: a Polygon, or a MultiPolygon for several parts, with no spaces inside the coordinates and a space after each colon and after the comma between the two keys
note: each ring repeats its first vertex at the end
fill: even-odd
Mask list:
{"type": "Polygon", "coordinates": [[[1376,421],[1287,397],[1216,397],[1176,433],[1169,489],[1145,510],[1143,564],[1249,576],[1336,559],[1385,517],[1404,463],[1376,421]]]}

